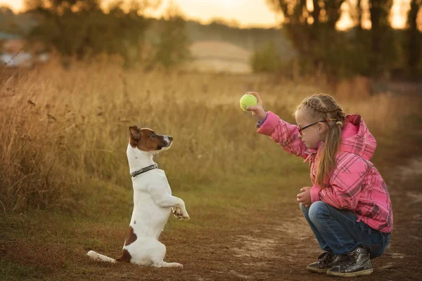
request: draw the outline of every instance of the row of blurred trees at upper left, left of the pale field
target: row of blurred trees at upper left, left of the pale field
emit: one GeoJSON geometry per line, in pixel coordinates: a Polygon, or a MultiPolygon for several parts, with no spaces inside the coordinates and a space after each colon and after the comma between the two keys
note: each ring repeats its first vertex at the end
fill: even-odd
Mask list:
{"type": "Polygon", "coordinates": [[[124,67],[172,67],[190,58],[185,21],[177,7],[167,9],[158,34],[147,41],[152,21],[146,11],[158,8],[161,0],[104,2],[25,0],[25,14],[36,24],[23,32],[24,37],[53,48],[64,65],[68,58],[83,60],[99,54],[119,55],[124,67]]]}

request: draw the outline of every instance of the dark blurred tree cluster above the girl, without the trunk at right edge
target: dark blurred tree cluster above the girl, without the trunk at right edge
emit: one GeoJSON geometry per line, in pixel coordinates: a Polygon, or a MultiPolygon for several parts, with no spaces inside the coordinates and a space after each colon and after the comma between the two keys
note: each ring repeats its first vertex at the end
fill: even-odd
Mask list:
{"type": "Polygon", "coordinates": [[[283,14],[283,30],[299,52],[301,64],[309,70],[322,66],[328,78],[350,73],[347,69],[378,77],[394,65],[397,39],[388,21],[392,0],[312,0],[313,7],[310,0],[267,1],[283,14]],[[343,4],[355,22],[347,32],[335,28],[343,4]],[[369,6],[369,32],[363,29],[364,4],[369,6]]]}

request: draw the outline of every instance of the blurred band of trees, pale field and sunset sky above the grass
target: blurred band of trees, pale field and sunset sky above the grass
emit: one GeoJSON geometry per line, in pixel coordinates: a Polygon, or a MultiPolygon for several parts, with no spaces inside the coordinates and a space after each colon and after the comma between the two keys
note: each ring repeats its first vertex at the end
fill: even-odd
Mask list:
{"type": "Polygon", "coordinates": [[[118,57],[285,77],[421,79],[419,0],[2,0],[8,67],[118,57]],[[11,59],[13,57],[13,60],[11,59]]]}

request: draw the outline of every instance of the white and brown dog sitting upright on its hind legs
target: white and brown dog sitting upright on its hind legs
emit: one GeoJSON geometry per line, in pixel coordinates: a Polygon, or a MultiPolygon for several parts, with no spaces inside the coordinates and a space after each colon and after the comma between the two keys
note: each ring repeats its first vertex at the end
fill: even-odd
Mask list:
{"type": "Polygon", "coordinates": [[[134,188],[134,211],[122,256],[111,259],[95,251],[87,255],[110,263],[126,261],[142,266],[182,268],[180,263],[163,261],[165,245],[158,241],[171,213],[181,220],[189,219],[184,201],[172,196],[164,171],[153,162],[153,155],[168,150],[173,138],[138,126],[130,126],[129,132],[127,160],[134,188]]]}

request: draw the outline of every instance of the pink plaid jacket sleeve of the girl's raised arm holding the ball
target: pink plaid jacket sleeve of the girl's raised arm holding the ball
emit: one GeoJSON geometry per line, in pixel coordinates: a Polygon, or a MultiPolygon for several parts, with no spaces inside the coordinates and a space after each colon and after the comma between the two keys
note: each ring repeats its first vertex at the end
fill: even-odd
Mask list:
{"type": "Polygon", "coordinates": [[[267,117],[260,124],[257,133],[269,136],[271,140],[281,145],[290,154],[303,158],[308,156],[305,154],[307,150],[305,143],[299,137],[298,126],[288,124],[271,111],[267,112],[267,117]]]}

